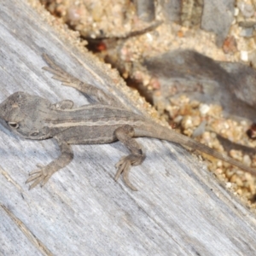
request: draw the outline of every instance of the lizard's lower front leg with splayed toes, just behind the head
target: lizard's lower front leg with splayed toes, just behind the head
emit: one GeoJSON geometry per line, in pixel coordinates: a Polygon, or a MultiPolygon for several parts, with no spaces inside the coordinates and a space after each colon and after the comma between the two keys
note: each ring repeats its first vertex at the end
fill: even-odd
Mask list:
{"type": "Polygon", "coordinates": [[[49,163],[47,166],[40,166],[40,169],[31,172],[26,180],[26,183],[33,182],[29,189],[33,189],[38,183],[41,187],[48,182],[49,177],[51,177],[55,172],[61,170],[61,168],[67,166],[73,160],[73,150],[69,144],[66,142],[60,142],[57,137],[55,137],[56,142],[59,144],[61,149],[61,155],[49,163]]]}

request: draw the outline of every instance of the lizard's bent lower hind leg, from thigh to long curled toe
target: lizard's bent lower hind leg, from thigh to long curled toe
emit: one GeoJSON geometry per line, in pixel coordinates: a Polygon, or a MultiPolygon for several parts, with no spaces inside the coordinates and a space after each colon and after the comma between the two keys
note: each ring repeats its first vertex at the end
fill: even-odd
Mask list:
{"type": "Polygon", "coordinates": [[[145,154],[143,154],[143,150],[139,143],[137,143],[137,141],[133,138],[134,129],[131,125],[121,126],[116,129],[114,133],[118,140],[125,144],[125,146],[131,151],[131,154],[122,157],[116,164],[118,172],[116,173],[114,180],[117,181],[120,174],[123,174],[126,185],[132,190],[136,191],[137,189],[131,184],[129,180],[129,172],[131,166],[138,166],[143,162],[145,159],[145,154]]]}

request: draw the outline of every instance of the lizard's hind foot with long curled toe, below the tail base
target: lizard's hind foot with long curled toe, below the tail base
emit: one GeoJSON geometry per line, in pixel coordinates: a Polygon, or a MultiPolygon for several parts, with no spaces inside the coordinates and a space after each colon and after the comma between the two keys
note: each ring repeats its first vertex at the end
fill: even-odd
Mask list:
{"type": "Polygon", "coordinates": [[[125,184],[133,191],[137,191],[137,188],[134,187],[129,180],[129,172],[131,170],[131,166],[137,166],[141,164],[143,158],[141,155],[128,155],[122,157],[119,162],[115,165],[118,169],[114,176],[114,180],[117,181],[121,174],[123,174],[125,184]]]}

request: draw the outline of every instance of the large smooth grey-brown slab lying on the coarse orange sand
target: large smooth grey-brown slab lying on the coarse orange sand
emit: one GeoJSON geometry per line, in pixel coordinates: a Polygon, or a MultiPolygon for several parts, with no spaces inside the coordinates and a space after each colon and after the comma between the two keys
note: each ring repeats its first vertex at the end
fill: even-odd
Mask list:
{"type": "Polygon", "coordinates": [[[185,94],[217,103],[224,113],[256,121],[256,71],[241,63],[213,61],[192,50],[174,50],[144,61],[163,97],[185,94]]]}

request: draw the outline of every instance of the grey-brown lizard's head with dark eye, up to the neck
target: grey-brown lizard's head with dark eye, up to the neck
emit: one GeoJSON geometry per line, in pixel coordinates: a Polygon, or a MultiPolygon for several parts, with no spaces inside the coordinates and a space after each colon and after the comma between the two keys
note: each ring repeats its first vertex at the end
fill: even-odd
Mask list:
{"type": "Polygon", "coordinates": [[[20,137],[45,139],[51,137],[44,122],[50,105],[42,97],[18,91],[0,104],[0,118],[20,137]]]}

